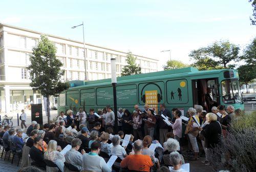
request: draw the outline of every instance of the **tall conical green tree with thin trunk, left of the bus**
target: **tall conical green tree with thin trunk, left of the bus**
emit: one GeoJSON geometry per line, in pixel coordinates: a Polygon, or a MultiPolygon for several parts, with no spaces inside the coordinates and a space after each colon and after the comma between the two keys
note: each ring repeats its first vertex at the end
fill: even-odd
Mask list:
{"type": "Polygon", "coordinates": [[[69,88],[69,82],[61,77],[65,71],[61,70],[62,63],[56,58],[56,47],[45,35],[41,35],[38,46],[33,48],[29,59],[31,65],[27,67],[30,73],[30,87],[47,98],[48,122],[50,121],[49,97],[56,96],[69,88]]]}

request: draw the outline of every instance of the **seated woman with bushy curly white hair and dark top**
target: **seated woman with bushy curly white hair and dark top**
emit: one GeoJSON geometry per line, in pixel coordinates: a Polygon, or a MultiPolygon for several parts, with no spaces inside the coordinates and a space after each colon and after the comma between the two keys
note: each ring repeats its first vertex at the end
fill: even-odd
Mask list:
{"type": "MultiPolygon", "coordinates": [[[[176,140],[176,139],[173,139],[173,138],[169,138],[166,142],[165,142],[165,148],[166,150],[163,152],[163,157],[162,157],[162,160],[161,160],[161,164],[164,164],[164,165],[168,165],[168,166],[172,166],[172,164],[170,163],[170,153],[172,152],[175,152],[175,151],[180,151],[180,143],[176,140]]],[[[185,161],[184,161],[184,158],[182,155],[181,156],[181,159],[182,159],[182,164],[185,164],[185,161]]]]}

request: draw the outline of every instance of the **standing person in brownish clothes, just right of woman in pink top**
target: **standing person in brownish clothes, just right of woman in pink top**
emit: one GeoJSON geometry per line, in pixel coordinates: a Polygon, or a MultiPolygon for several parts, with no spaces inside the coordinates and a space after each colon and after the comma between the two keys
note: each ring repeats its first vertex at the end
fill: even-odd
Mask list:
{"type": "Polygon", "coordinates": [[[195,126],[200,126],[199,123],[199,117],[198,115],[195,115],[197,111],[193,108],[190,107],[188,109],[188,114],[189,114],[189,121],[186,126],[185,134],[187,134],[190,144],[192,145],[193,151],[194,151],[194,158],[191,158],[191,161],[196,161],[199,159],[198,154],[199,154],[199,147],[197,144],[197,135],[198,135],[198,130],[195,128],[195,126]]]}

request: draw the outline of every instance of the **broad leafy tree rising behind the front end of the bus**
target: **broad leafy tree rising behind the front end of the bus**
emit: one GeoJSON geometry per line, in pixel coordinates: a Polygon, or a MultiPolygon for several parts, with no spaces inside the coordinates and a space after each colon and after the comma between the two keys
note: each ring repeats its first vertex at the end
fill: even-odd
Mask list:
{"type": "Polygon", "coordinates": [[[194,60],[193,66],[199,70],[227,69],[230,62],[239,59],[240,48],[227,41],[216,41],[208,47],[190,52],[189,57],[194,60]]]}

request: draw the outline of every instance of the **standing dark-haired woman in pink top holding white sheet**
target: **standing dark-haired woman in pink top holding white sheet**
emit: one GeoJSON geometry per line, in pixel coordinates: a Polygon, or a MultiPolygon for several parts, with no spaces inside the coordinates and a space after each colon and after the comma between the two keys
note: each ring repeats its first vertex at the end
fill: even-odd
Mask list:
{"type": "Polygon", "coordinates": [[[174,116],[176,118],[174,125],[173,125],[174,138],[179,141],[180,138],[182,137],[182,120],[180,118],[181,112],[179,110],[176,110],[174,112],[174,116]]]}

